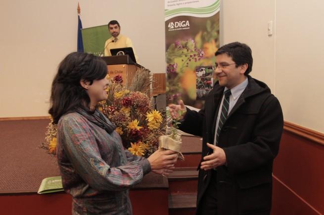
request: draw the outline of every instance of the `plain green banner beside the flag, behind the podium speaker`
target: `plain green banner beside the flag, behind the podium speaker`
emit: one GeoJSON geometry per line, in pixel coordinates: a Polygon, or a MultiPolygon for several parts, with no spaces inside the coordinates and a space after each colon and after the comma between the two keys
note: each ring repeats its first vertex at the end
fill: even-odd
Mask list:
{"type": "Polygon", "coordinates": [[[111,37],[108,26],[95,26],[81,29],[84,52],[103,56],[104,44],[111,37]]]}

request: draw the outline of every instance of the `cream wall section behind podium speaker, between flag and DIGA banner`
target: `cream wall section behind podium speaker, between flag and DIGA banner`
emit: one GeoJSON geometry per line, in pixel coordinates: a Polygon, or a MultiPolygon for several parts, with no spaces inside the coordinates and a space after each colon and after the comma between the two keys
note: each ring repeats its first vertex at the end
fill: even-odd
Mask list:
{"type": "Polygon", "coordinates": [[[165,72],[163,0],[79,0],[82,27],[118,20],[121,34],[132,39],[139,64],[154,73],[165,72]]]}

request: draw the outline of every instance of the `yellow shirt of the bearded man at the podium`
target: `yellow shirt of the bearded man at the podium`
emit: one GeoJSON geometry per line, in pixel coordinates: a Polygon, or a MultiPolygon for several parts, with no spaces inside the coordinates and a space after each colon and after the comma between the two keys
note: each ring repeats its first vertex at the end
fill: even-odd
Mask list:
{"type": "Polygon", "coordinates": [[[134,51],[136,62],[139,63],[139,58],[138,58],[138,56],[137,56],[137,54],[135,52],[135,49],[133,47],[132,40],[130,38],[128,38],[127,36],[123,36],[121,34],[119,34],[117,36],[117,38],[112,36],[109,39],[107,39],[107,41],[105,42],[104,47],[105,47],[104,56],[111,56],[110,49],[112,49],[112,48],[132,47],[133,51],[134,51]],[[112,42],[112,40],[115,40],[115,41],[112,42]]]}

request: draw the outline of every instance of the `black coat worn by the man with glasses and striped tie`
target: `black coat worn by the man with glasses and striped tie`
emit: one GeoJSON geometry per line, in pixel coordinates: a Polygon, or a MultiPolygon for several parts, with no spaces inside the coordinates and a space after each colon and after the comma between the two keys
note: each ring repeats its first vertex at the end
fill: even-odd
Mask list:
{"type": "MultiPolygon", "coordinates": [[[[212,153],[216,118],[224,87],[218,82],[199,112],[187,109],[180,129],[203,138],[202,157],[212,153]]],[[[221,130],[219,147],[227,164],[217,168],[218,215],[268,215],[272,199],[272,168],[278,154],[283,116],[269,87],[248,75],[248,85],[232,108],[221,130]]],[[[185,143],[184,143],[185,144],[185,143]]],[[[199,169],[197,208],[211,171],[199,169]]]]}

